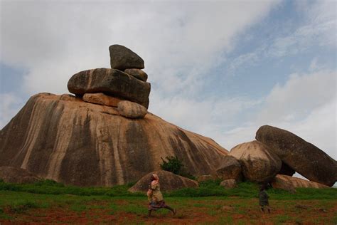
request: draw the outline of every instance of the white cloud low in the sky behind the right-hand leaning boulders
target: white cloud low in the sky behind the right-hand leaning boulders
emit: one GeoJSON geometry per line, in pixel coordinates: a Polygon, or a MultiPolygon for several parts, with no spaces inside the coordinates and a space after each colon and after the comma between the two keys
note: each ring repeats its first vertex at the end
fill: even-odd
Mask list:
{"type": "Polygon", "coordinates": [[[222,142],[230,149],[255,140],[262,125],[289,130],[337,159],[336,70],[289,75],[284,85],[275,85],[251,120],[225,132],[222,142]]]}

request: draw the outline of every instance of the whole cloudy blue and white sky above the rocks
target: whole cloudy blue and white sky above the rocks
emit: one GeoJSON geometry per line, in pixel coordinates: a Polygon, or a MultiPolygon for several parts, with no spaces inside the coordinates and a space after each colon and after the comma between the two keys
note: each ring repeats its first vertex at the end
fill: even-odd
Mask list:
{"type": "Polygon", "coordinates": [[[144,59],[149,111],[230,150],[262,125],[337,159],[336,1],[0,0],[0,128],[31,95],[144,59]]]}

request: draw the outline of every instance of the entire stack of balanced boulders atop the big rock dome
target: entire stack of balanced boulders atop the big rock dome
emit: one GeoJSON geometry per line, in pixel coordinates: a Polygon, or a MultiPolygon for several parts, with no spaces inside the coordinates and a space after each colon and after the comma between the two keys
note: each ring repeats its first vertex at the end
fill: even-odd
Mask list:
{"type": "Polygon", "coordinates": [[[68,90],[87,103],[118,109],[130,118],[143,118],[149,108],[151,84],[141,70],[144,61],[129,48],[109,46],[111,68],[84,70],[68,81],[68,90]]]}

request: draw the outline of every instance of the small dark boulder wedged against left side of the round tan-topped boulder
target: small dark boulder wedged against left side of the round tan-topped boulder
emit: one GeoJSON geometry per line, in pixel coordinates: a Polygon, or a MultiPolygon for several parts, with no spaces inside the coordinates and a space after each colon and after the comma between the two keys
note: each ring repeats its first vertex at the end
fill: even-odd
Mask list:
{"type": "Polygon", "coordinates": [[[220,169],[216,171],[220,179],[236,179],[240,180],[242,177],[242,169],[240,162],[231,155],[224,158],[220,169]]]}

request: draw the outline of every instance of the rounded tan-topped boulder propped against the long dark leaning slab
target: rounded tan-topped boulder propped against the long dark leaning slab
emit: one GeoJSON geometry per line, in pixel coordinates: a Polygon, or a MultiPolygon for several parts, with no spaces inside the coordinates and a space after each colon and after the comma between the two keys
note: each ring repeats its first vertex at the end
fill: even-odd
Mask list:
{"type": "Polygon", "coordinates": [[[282,165],[281,159],[267,145],[256,140],[233,147],[229,155],[240,161],[243,175],[255,182],[271,179],[282,165]]]}

